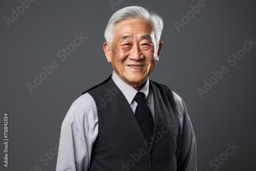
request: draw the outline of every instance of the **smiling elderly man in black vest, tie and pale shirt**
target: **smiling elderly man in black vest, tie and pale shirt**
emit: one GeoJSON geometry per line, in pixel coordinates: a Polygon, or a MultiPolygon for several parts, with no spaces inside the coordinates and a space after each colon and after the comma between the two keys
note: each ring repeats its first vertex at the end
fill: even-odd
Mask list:
{"type": "Polygon", "coordinates": [[[162,18],[142,7],[115,12],[103,44],[112,75],[71,105],[57,171],[197,170],[196,140],[182,99],[148,79],[159,59],[162,18]]]}

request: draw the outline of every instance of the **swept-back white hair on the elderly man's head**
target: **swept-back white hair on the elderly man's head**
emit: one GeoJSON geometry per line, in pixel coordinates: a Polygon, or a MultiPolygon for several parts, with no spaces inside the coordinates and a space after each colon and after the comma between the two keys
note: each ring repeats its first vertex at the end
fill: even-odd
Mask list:
{"type": "Polygon", "coordinates": [[[163,19],[155,12],[148,12],[147,9],[138,6],[125,7],[116,11],[110,18],[108,25],[105,29],[105,39],[113,48],[113,39],[116,36],[116,25],[124,20],[131,18],[139,18],[148,22],[156,38],[156,50],[158,50],[159,40],[163,30],[163,19]]]}

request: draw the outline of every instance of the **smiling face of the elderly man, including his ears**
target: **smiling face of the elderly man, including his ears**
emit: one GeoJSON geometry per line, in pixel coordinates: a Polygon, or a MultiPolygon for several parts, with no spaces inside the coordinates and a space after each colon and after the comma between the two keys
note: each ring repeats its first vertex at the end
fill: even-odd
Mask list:
{"type": "Polygon", "coordinates": [[[116,26],[113,49],[103,45],[108,62],[119,78],[140,90],[153,72],[162,42],[156,52],[156,39],[150,24],[141,19],[128,19],[116,26]]]}

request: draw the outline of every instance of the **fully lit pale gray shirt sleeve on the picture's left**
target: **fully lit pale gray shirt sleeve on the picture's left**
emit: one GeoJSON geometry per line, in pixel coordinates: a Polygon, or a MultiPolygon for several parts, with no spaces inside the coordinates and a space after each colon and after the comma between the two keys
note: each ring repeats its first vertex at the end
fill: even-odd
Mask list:
{"type": "Polygon", "coordinates": [[[61,125],[56,171],[87,171],[98,135],[96,104],[88,93],[71,105],[61,125]]]}

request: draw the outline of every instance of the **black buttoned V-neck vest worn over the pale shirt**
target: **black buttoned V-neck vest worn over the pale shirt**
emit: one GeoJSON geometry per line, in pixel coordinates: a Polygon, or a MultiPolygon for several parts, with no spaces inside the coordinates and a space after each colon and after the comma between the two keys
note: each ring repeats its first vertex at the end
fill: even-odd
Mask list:
{"type": "MultiPolygon", "coordinates": [[[[155,121],[150,147],[130,104],[111,77],[84,92],[97,106],[98,136],[89,171],[177,170],[176,150],[180,122],[172,91],[150,80],[155,121]]],[[[83,93],[83,94],[84,94],[83,93]]]]}

